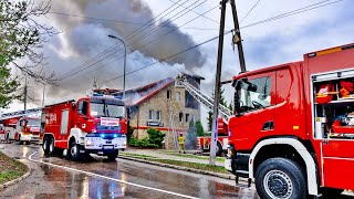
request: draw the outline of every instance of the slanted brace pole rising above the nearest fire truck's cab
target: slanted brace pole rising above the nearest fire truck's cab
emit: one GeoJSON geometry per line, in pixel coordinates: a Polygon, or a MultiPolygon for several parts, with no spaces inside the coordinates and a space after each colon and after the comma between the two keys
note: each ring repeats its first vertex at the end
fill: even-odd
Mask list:
{"type": "Polygon", "coordinates": [[[241,72],[246,72],[246,62],[244,62],[244,54],[243,54],[243,48],[242,48],[242,39],[241,39],[240,24],[239,24],[239,19],[237,17],[235,0],[230,0],[230,4],[231,4],[233,25],[235,25],[235,28],[233,28],[235,35],[232,38],[232,42],[237,44],[237,49],[239,52],[239,61],[240,61],[241,72]]]}

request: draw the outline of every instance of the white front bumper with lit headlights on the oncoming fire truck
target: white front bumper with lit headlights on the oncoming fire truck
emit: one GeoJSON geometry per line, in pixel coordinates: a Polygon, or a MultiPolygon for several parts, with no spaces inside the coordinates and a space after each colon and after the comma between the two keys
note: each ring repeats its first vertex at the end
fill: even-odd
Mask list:
{"type": "Polygon", "coordinates": [[[103,137],[85,137],[85,150],[112,151],[126,148],[126,136],[112,139],[103,137]]]}

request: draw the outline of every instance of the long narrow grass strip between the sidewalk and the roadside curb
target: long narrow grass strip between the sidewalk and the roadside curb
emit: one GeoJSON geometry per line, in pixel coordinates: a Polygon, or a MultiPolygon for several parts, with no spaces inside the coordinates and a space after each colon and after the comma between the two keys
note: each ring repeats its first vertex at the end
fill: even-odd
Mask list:
{"type": "Polygon", "coordinates": [[[127,156],[127,157],[138,158],[138,159],[146,159],[146,160],[155,161],[155,163],[163,163],[163,164],[181,166],[181,167],[187,167],[187,168],[195,168],[195,169],[199,169],[199,170],[230,174],[228,170],[226,170],[223,167],[220,167],[220,166],[210,166],[207,164],[188,163],[188,161],[180,161],[180,160],[174,160],[174,159],[159,159],[159,158],[153,157],[153,156],[136,155],[136,154],[128,154],[128,153],[124,153],[122,155],[127,156]]]}

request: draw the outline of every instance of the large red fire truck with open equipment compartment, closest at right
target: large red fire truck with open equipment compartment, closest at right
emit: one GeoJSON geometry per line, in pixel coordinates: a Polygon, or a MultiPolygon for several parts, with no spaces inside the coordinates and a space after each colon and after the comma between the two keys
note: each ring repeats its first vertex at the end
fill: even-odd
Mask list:
{"type": "Polygon", "coordinates": [[[226,168],[261,198],[354,190],[354,44],[233,77],[226,168]]]}

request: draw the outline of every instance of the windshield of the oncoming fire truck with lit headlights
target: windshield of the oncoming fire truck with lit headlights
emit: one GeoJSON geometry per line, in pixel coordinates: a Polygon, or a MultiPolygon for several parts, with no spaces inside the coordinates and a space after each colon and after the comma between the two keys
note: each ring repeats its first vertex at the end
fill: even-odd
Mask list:
{"type": "Polygon", "coordinates": [[[91,103],[91,116],[93,117],[121,117],[125,115],[125,107],[116,104],[91,103]]]}

